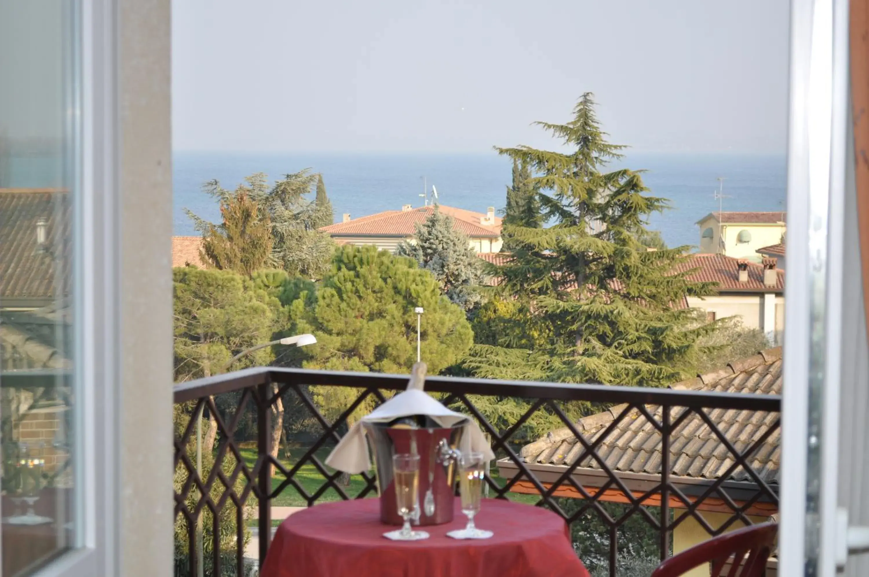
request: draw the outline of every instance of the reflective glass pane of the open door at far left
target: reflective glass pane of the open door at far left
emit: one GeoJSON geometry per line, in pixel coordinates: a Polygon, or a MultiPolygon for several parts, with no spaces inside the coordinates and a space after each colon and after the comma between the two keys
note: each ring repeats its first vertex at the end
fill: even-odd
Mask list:
{"type": "Polygon", "coordinates": [[[77,3],[0,3],[3,577],[75,544],[77,3]]]}

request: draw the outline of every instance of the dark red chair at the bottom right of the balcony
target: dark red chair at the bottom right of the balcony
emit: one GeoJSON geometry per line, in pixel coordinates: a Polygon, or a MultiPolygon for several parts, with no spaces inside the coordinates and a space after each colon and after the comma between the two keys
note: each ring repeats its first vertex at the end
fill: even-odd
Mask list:
{"type": "Polygon", "coordinates": [[[652,577],[680,577],[707,563],[712,566],[710,577],[721,577],[721,570],[731,557],[733,566],[726,577],[764,577],[766,560],[773,552],[778,533],[778,523],[763,523],[719,535],[665,560],[652,577]]]}

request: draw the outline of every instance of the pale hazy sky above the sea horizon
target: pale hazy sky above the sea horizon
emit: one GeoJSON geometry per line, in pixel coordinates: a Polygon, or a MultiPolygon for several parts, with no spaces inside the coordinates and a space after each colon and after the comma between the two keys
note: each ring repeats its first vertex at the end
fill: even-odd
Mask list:
{"type": "Polygon", "coordinates": [[[173,0],[179,150],[786,147],[787,0],[173,0]]]}

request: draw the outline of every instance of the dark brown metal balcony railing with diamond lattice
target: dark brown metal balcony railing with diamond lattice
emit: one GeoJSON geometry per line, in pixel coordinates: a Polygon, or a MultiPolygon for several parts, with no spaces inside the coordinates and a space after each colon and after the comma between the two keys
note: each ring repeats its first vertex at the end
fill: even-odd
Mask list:
{"type": "MultiPolygon", "coordinates": [[[[183,550],[181,554],[176,552],[177,573],[197,575],[200,562],[206,566],[205,574],[244,575],[249,572],[250,560],[244,558],[244,545],[248,535],[248,515],[252,511],[255,512],[259,563],[262,564],[271,538],[271,505],[285,489],[300,495],[308,506],[326,499],[327,493],[332,499],[335,495],[340,499],[375,496],[377,487],[373,473],[362,474],[361,489],[351,495],[343,486],[342,474],[327,468],[322,455],[341,438],[348,417],[362,407],[362,403],[368,402],[369,407],[371,401],[379,403],[384,400],[384,393],[403,390],[407,382],[408,375],[251,368],[177,385],[175,509],[179,521],[176,521],[176,549],[183,550]],[[317,385],[349,388],[353,390],[349,398],[355,398],[355,401],[348,402],[340,415],[329,420],[312,399],[310,387],[317,385]],[[229,395],[229,408],[227,397],[216,402],[217,395],[229,395]],[[270,420],[279,398],[295,398],[295,410],[304,412],[308,422],[319,428],[319,434],[308,435],[304,447],[299,449],[304,452],[297,453],[289,461],[289,466],[271,456],[270,420]],[[206,409],[216,421],[218,435],[213,465],[203,467],[200,476],[193,448],[197,417],[206,409]],[[248,431],[247,441],[240,438],[242,422],[248,431]],[[251,440],[252,436],[255,436],[255,441],[251,440]],[[254,447],[255,459],[252,459],[250,452],[254,447]],[[243,454],[245,451],[248,452],[247,461],[243,454]],[[272,486],[269,465],[274,466],[275,475],[281,480],[275,487],[272,486]],[[303,467],[308,471],[308,488],[300,482],[303,467]],[[311,467],[322,476],[322,485],[315,490],[311,490],[309,482],[311,467]],[[202,523],[197,521],[202,514],[210,518],[210,527],[197,526],[197,522],[202,523]],[[197,531],[206,534],[204,561],[193,553],[197,550],[197,531]]],[[[778,395],[438,376],[427,378],[426,390],[441,394],[439,398],[445,404],[473,415],[483,431],[490,435],[499,461],[498,474],[488,479],[489,496],[515,498],[516,494],[523,493],[527,499],[528,493],[534,493],[539,497],[535,498],[538,505],[551,508],[572,527],[582,527],[588,513],[599,515],[606,532],[602,537],[608,539],[608,573],[611,576],[616,574],[619,560],[620,531],[637,517],[654,534],[657,554],[663,559],[672,553],[673,530],[688,519],[696,521],[708,534],[720,534],[734,523],[751,523],[752,515],[758,514],[761,505],[769,510],[778,507],[777,484],[770,480],[769,471],[766,471],[765,478],[765,474],[754,470],[756,465],[753,468],[753,457],[761,448],[768,448],[767,441],[773,434],[779,434],[781,401],[778,395]],[[507,426],[501,420],[501,428],[495,428],[474,405],[472,399],[479,398],[475,395],[499,400],[521,398],[529,402],[529,408],[507,426]],[[598,407],[598,410],[616,404],[620,407],[614,408],[614,419],[607,428],[594,434],[582,434],[564,409],[565,403],[570,401],[592,403],[591,406],[598,407]],[[541,411],[548,418],[561,421],[581,446],[579,458],[567,467],[536,466],[537,463],[526,462],[520,454],[523,444],[534,441],[521,438],[523,426],[541,411]],[[733,434],[740,434],[739,431],[722,431],[710,419],[709,415],[722,414],[722,411],[751,411],[759,415],[755,421],[764,421],[766,427],[751,439],[737,440],[733,434]],[[660,446],[660,467],[656,474],[620,472],[598,454],[601,443],[608,435],[615,434],[621,421],[638,418],[650,423],[657,435],[654,442],[660,446]],[[720,441],[716,448],[718,456],[722,451],[726,453],[725,458],[719,459],[724,463],[720,478],[689,480],[673,474],[670,454],[673,435],[684,432],[689,421],[698,419],[720,441]],[[741,472],[741,481],[734,481],[733,474],[737,471],[741,472]],[[682,481],[690,482],[685,484],[682,481]],[[571,507],[566,507],[568,501],[561,496],[565,494],[577,497],[569,501],[571,507]],[[619,502],[620,509],[614,513],[605,501],[619,502]],[[722,512],[729,516],[711,523],[701,513],[708,510],[716,511],[719,520],[722,512]]],[[[210,455],[208,459],[210,461],[210,455]]],[[[357,482],[356,486],[360,487],[360,483],[357,482]]],[[[583,552],[579,554],[582,558],[583,552]]]]}

